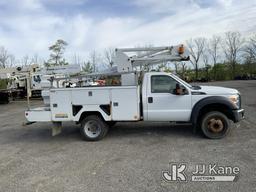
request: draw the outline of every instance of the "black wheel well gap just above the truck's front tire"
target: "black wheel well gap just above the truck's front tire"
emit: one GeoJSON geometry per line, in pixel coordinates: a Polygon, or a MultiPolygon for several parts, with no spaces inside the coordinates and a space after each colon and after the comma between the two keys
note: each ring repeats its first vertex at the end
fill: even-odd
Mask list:
{"type": "Polygon", "coordinates": [[[227,116],[227,118],[234,121],[232,109],[230,109],[225,104],[213,103],[213,104],[205,105],[204,107],[202,107],[202,109],[199,111],[199,114],[197,116],[197,122],[200,122],[200,120],[204,114],[211,112],[211,111],[219,111],[219,112],[225,114],[227,116]]]}

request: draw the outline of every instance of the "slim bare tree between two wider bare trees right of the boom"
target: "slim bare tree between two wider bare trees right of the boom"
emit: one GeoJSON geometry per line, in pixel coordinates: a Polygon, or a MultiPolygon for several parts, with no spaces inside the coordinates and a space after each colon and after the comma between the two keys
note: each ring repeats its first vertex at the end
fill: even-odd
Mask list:
{"type": "Polygon", "coordinates": [[[214,35],[209,40],[209,45],[208,45],[209,54],[213,61],[213,69],[214,69],[213,78],[214,79],[216,79],[216,64],[217,64],[218,58],[220,57],[219,55],[220,43],[221,43],[221,37],[214,35]]]}

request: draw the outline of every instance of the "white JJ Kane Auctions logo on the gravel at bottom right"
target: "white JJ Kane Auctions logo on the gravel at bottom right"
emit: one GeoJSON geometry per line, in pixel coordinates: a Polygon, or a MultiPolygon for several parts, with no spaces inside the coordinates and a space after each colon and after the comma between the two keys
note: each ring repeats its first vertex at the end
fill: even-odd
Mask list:
{"type": "Polygon", "coordinates": [[[196,164],[188,172],[187,163],[170,163],[169,170],[162,172],[165,181],[236,181],[240,173],[239,167],[219,166],[218,164],[196,164]]]}

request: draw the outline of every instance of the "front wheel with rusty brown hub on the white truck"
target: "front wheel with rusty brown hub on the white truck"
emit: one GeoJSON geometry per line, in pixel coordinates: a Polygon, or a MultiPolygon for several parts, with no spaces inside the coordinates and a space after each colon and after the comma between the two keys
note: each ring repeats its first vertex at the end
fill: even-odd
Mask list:
{"type": "Polygon", "coordinates": [[[230,129],[230,120],[218,111],[205,114],[201,120],[201,130],[210,139],[221,139],[228,135],[230,129]]]}

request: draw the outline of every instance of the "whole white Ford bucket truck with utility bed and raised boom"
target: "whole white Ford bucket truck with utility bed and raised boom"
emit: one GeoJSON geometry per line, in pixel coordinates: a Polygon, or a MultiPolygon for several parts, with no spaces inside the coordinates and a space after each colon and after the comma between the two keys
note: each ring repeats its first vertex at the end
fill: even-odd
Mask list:
{"type": "MultiPolygon", "coordinates": [[[[141,76],[142,83],[138,83],[138,73],[131,72],[131,67],[140,61],[154,64],[163,56],[169,60],[187,59],[178,48],[178,53],[174,52],[174,48],[168,47],[170,52],[156,55],[160,48],[150,49],[151,56],[146,58],[127,56],[130,65],[126,63],[118,70],[122,72],[121,86],[50,88],[43,92],[45,106],[29,109],[25,116],[29,123],[53,122],[54,135],[60,132],[61,122],[80,123],[81,135],[88,141],[102,139],[110,126],[124,121],[186,122],[194,129],[201,129],[208,138],[225,137],[231,129],[230,121],[236,123],[244,118],[241,96],[236,89],[192,86],[164,72],[145,73],[141,76]]],[[[121,53],[134,49],[122,49],[121,53]]],[[[119,63],[126,62],[124,55],[118,56],[120,50],[116,51],[119,63]]]]}

